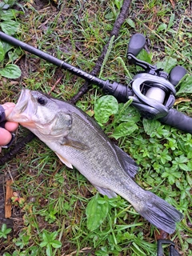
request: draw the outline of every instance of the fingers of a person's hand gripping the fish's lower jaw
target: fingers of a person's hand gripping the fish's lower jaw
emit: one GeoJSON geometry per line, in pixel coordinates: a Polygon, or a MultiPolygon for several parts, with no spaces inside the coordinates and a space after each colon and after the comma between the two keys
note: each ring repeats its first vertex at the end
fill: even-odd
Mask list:
{"type": "MultiPolygon", "coordinates": [[[[14,109],[14,103],[12,103],[12,102],[6,102],[5,104],[3,104],[1,106],[5,110],[6,117],[14,109]]],[[[0,123],[0,125],[1,125],[1,123],[0,123]]],[[[10,142],[10,140],[12,138],[10,133],[13,132],[14,130],[16,130],[17,128],[18,128],[17,122],[6,122],[4,128],[0,127],[0,152],[2,150],[1,146],[4,146],[10,142]]]]}

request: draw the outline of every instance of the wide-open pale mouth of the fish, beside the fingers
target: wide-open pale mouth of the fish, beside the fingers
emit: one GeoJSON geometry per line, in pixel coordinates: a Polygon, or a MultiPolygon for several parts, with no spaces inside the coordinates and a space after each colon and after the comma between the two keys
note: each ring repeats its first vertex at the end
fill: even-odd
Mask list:
{"type": "Polygon", "coordinates": [[[7,117],[7,120],[20,123],[30,122],[33,112],[34,104],[31,100],[30,90],[22,89],[18,102],[14,106],[14,110],[7,117]]]}

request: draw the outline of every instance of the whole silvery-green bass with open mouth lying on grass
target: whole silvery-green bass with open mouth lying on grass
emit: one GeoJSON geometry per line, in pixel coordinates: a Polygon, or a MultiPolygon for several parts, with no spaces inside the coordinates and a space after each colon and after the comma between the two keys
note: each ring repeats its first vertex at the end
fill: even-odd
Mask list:
{"type": "Polygon", "coordinates": [[[139,186],[134,177],[138,165],[111,142],[94,118],[70,102],[23,89],[8,121],[19,122],[57,154],[69,168],[75,167],[109,198],[120,195],[158,229],[172,234],[183,218],[174,206],[139,186]]]}

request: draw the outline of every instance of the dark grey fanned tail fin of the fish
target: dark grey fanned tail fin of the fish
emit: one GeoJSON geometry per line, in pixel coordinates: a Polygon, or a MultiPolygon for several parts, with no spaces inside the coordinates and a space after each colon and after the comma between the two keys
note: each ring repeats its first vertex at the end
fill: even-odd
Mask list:
{"type": "Polygon", "coordinates": [[[135,210],[159,229],[169,234],[174,233],[175,222],[180,222],[183,215],[162,198],[158,198],[158,196],[149,191],[146,192],[148,199],[145,202],[145,206],[142,210],[137,210],[136,208],[135,210]]]}

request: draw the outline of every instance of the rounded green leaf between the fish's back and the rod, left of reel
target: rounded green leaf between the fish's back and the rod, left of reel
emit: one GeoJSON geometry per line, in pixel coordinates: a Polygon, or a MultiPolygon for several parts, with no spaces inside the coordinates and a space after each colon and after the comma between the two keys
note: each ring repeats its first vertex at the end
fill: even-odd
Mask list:
{"type": "Polygon", "coordinates": [[[103,124],[109,121],[112,114],[118,112],[118,101],[114,96],[106,95],[98,98],[94,106],[94,118],[103,124]]]}

